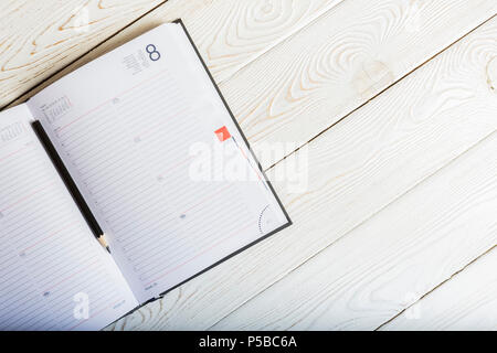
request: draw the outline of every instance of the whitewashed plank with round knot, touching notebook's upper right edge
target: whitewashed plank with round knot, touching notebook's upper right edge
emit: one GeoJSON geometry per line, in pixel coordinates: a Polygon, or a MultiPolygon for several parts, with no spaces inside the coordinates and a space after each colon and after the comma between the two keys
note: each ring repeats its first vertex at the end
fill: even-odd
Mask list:
{"type": "Polygon", "coordinates": [[[305,143],[495,13],[497,1],[346,1],[222,88],[254,148],[305,143]]]}

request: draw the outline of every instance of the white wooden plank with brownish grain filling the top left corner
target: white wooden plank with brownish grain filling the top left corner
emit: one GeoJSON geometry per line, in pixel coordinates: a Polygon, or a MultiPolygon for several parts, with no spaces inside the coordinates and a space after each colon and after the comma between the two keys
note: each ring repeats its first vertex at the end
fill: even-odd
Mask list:
{"type": "Polygon", "coordinates": [[[0,108],[163,0],[2,0],[0,108]]]}

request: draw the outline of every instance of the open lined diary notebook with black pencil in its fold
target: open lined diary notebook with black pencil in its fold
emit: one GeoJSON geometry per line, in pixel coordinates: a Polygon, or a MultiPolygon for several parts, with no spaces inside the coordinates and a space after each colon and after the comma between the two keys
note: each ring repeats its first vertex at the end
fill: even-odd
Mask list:
{"type": "Polygon", "coordinates": [[[0,113],[2,330],[104,328],[289,224],[180,20],[0,113]]]}

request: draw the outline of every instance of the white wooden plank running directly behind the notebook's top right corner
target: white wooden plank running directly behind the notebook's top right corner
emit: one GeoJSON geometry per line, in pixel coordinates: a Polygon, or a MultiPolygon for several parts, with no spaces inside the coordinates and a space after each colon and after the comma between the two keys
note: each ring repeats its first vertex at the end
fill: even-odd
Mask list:
{"type": "MultiPolygon", "coordinates": [[[[25,100],[42,87],[105,52],[160,23],[178,18],[183,20],[212,74],[221,82],[341,1],[169,0],[137,23],[128,25],[103,42],[63,72],[50,77],[40,87],[23,95],[17,103],[25,100]]],[[[14,32],[20,28],[22,23],[10,31],[14,32]]]]}

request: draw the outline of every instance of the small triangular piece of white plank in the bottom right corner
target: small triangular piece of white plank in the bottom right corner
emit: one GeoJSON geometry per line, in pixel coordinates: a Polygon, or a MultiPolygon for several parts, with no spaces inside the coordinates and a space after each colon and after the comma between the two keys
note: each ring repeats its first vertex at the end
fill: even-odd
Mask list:
{"type": "Polygon", "coordinates": [[[381,330],[497,331],[497,248],[381,330]]]}

